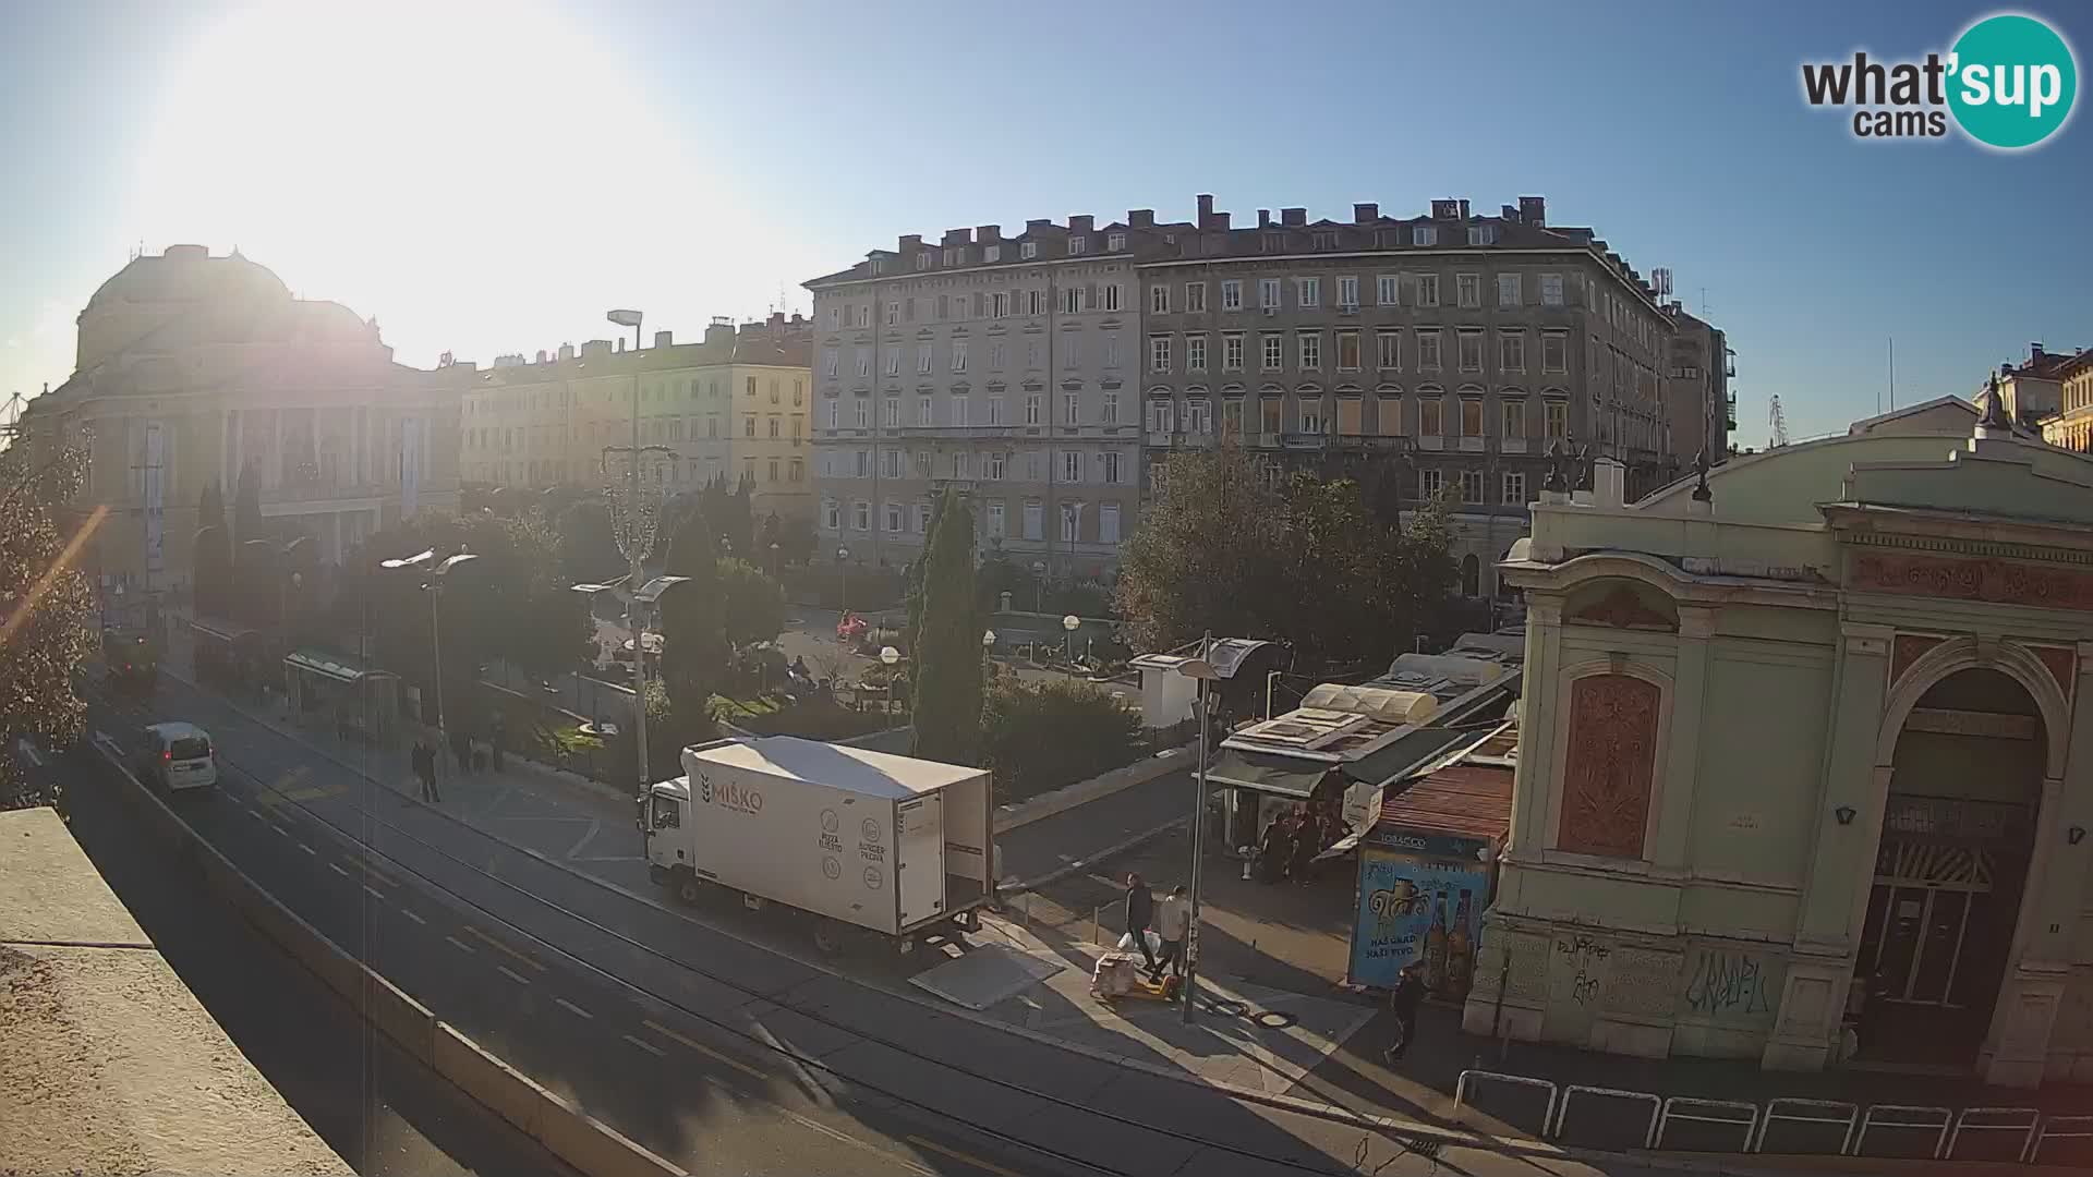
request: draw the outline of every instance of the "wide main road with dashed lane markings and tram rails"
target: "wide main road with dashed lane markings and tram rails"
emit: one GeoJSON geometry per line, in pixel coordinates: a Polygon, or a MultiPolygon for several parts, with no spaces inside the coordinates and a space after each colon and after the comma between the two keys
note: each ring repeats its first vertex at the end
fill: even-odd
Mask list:
{"type": "Polygon", "coordinates": [[[1411,1141],[1074,1056],[745,942],[178,681],[153,710],[218,739],[222,790],[182,798],[203,838],[440,1018],[691,1171],[1425,1171],[1411,1141]]]}

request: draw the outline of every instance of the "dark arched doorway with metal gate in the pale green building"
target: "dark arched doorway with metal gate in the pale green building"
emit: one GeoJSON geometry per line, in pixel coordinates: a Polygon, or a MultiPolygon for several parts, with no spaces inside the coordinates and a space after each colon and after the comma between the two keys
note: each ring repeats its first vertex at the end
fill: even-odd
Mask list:
{"type": "Polygon", "coordinates": [[[1861,1060],[1976,1062],[2013,947],[2045,748],[2036,702],[1999,670],[1940,679],[1905,718],[1854,968],[1861,1060]]]}

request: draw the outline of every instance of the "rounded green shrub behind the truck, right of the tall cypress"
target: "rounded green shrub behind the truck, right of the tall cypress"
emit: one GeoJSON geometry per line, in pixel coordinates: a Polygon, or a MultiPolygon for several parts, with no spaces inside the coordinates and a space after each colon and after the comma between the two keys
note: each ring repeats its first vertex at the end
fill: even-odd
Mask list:
{"type": "Polygon", "coordinates": [[[982,706],[996,804],[1086,781],[1141,758],[1141,716],[1088,683],[998,676],[982,706]]]}

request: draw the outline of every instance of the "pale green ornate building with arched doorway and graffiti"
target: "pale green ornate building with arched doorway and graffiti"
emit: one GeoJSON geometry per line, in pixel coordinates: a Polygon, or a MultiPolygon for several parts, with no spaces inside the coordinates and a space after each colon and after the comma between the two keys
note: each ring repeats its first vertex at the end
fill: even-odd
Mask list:
{"type": "Polygon", "coordinates": [[[1503,563],[1526,689],[1467,1028],[2093,1079],[2093,461],[1986,413],[1578,482],[1503,563]]]}

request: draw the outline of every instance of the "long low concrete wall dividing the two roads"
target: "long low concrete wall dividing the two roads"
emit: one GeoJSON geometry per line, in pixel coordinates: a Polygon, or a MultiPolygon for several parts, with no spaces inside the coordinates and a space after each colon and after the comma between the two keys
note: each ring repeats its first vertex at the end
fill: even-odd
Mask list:
{"type": "Polygon", "coordinates": [[[617,1129],[488,1053],[456,1026],[440,1022],[421,1001],[341,951],[199,838],[165,798],[123,767],[121,754],[100,743],[96,752],[121,773],[123,800],[157,838],[193,859],[211,890],[226,896],[249,924],[339,993],[379,1032],[400,1043],[400,1049],[590,1177],[689,1177],[682,1167],[632,1143],[617,1129]]]}

